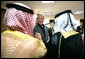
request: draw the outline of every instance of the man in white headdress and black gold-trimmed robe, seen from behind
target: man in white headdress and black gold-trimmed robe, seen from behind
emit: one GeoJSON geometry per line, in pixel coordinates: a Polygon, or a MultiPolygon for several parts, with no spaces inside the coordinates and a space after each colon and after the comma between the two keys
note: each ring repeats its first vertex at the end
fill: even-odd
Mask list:
{"type": "Polygon", "coordinates": [[[81,36],[76,32],[76,21],[71,10],[55,16],[52,43],[57,47],[58,58],[83,58],[81,36]]]}

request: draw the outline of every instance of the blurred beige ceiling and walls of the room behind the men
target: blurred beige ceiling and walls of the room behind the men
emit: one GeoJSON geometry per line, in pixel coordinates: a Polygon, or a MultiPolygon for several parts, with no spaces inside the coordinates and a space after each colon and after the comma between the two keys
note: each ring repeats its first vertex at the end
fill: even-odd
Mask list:
{"type": "MultiPolygon", "coordinates": [[[[4,14],[6,11],[7,3],[23,3],[29,6],[35,13],[44,13],[45,21],[44,24],[48,24],[51,22],[51,26],[53,27],[54,17],[57,13],[70,9],[73,12],[73,15],[76,19],[78,25],[80,25],[80,21],[84,22],[84,1],[1,1],[1,32],[6,30],[4,26],[4,14]]],[[[50,27],[49,25],[47,25],[50,27]]]]}

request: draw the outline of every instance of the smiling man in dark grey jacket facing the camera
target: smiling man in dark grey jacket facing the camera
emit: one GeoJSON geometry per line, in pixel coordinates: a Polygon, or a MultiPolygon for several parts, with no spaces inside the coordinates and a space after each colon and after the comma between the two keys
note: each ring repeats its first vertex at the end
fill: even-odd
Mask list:
{"type": "Polygon", "coordinates": [[[42,39],[45,45],[47,46],[47,43],[49,41],[49,34],[48,34],[48,28],[43,24],[43,21],[44,21],[44,15],[38,14],[37,22],[33,29],[33,34],[34,37],[42,39]]]}

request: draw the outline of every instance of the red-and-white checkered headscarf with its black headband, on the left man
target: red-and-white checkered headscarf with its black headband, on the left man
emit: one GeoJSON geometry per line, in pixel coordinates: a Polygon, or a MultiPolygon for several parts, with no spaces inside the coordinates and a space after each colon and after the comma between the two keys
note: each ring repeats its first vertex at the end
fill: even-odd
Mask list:
{"type": "Polygon", "coordinates": [[[33,36],[35,26],[34,12],[22,3],[8,3],[4,23],[8,29],[33,36]]]}

